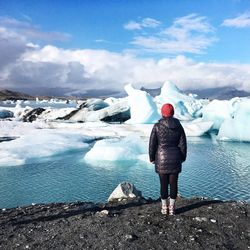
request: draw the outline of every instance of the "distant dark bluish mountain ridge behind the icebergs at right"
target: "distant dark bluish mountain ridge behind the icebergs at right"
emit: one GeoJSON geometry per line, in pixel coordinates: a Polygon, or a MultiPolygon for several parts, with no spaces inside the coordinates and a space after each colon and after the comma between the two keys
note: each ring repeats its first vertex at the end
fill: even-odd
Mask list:
{"type": "Polygon", "coordinates": [[[186,93],[197,94],[199,98],[208,98],[208,99],[220,99],[228,100],[233,97],[246,97],[250,96],[249,92],[243,90],[237,90],[233,87],[223,87],[223,88],[210,88],[202,90],[187,90],[186,93]]]}

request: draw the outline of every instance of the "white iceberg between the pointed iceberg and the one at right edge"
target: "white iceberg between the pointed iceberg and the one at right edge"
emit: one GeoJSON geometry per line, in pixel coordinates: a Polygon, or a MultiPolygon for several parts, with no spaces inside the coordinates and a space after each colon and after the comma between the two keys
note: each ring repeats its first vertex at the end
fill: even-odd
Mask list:
{"type": "Polygon", "coordinates": [[[240,98],[213,100],[202,109],[203,121],[212,121],[213,129],[219,129],[225,119],[231,118],[237,109],[240,98]]]}

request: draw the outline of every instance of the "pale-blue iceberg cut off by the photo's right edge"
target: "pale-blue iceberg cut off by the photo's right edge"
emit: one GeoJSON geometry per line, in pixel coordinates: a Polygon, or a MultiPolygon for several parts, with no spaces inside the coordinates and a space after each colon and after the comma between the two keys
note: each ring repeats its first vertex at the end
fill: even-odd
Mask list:
{"type": "Polygon", "coordinates": [[[250,99],[241,99],[234,114],[221,124],[217,138],[250,142],[250,99]]]}

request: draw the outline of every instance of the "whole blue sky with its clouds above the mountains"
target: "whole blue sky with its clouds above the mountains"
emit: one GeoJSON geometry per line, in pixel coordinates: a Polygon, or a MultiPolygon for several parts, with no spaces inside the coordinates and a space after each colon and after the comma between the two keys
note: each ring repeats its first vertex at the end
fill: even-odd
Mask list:
{"type": "Polygon", "coordinates": [[[250,91],[249,0],[1,0],[0,38],[5,88],[250,91]]]}

